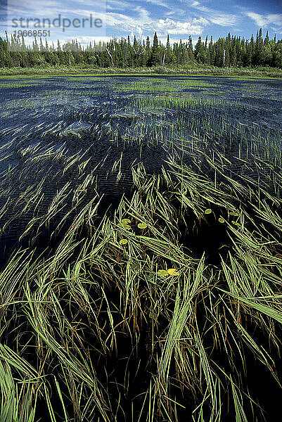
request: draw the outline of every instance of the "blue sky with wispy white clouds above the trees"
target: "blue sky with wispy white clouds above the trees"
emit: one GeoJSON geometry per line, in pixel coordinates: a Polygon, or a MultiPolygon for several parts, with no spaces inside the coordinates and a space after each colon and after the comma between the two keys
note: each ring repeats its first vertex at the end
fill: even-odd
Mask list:
{"type": "MultiPolygon", "coordinates": [[[[212,35],[216,40],[228,32],[250,39],[259,27],[263,36],[269,30],[270,37],[276,34],[276,38],[282,38],[282,0],[0,0],[0,4],[1,37],[5,30],[8,34],[15,30],[43,30],[45,18],[51,22],[50,27],[48,20],[45,24],[45,29],[50,31],[47,41],[77,38],[84,45],[94,39],[127,35],[152,38],[155,31],[164,42],[169,34],[172,43],[179,39],[186,41],[189,35],[194,44],[199,36],[205,39],[207,35],[210,39],[212,35]],[[28,28],[27,18],[30,19],[28,28]]],[[[26,44],[32,39],[27,37],[26,44]]]]}

